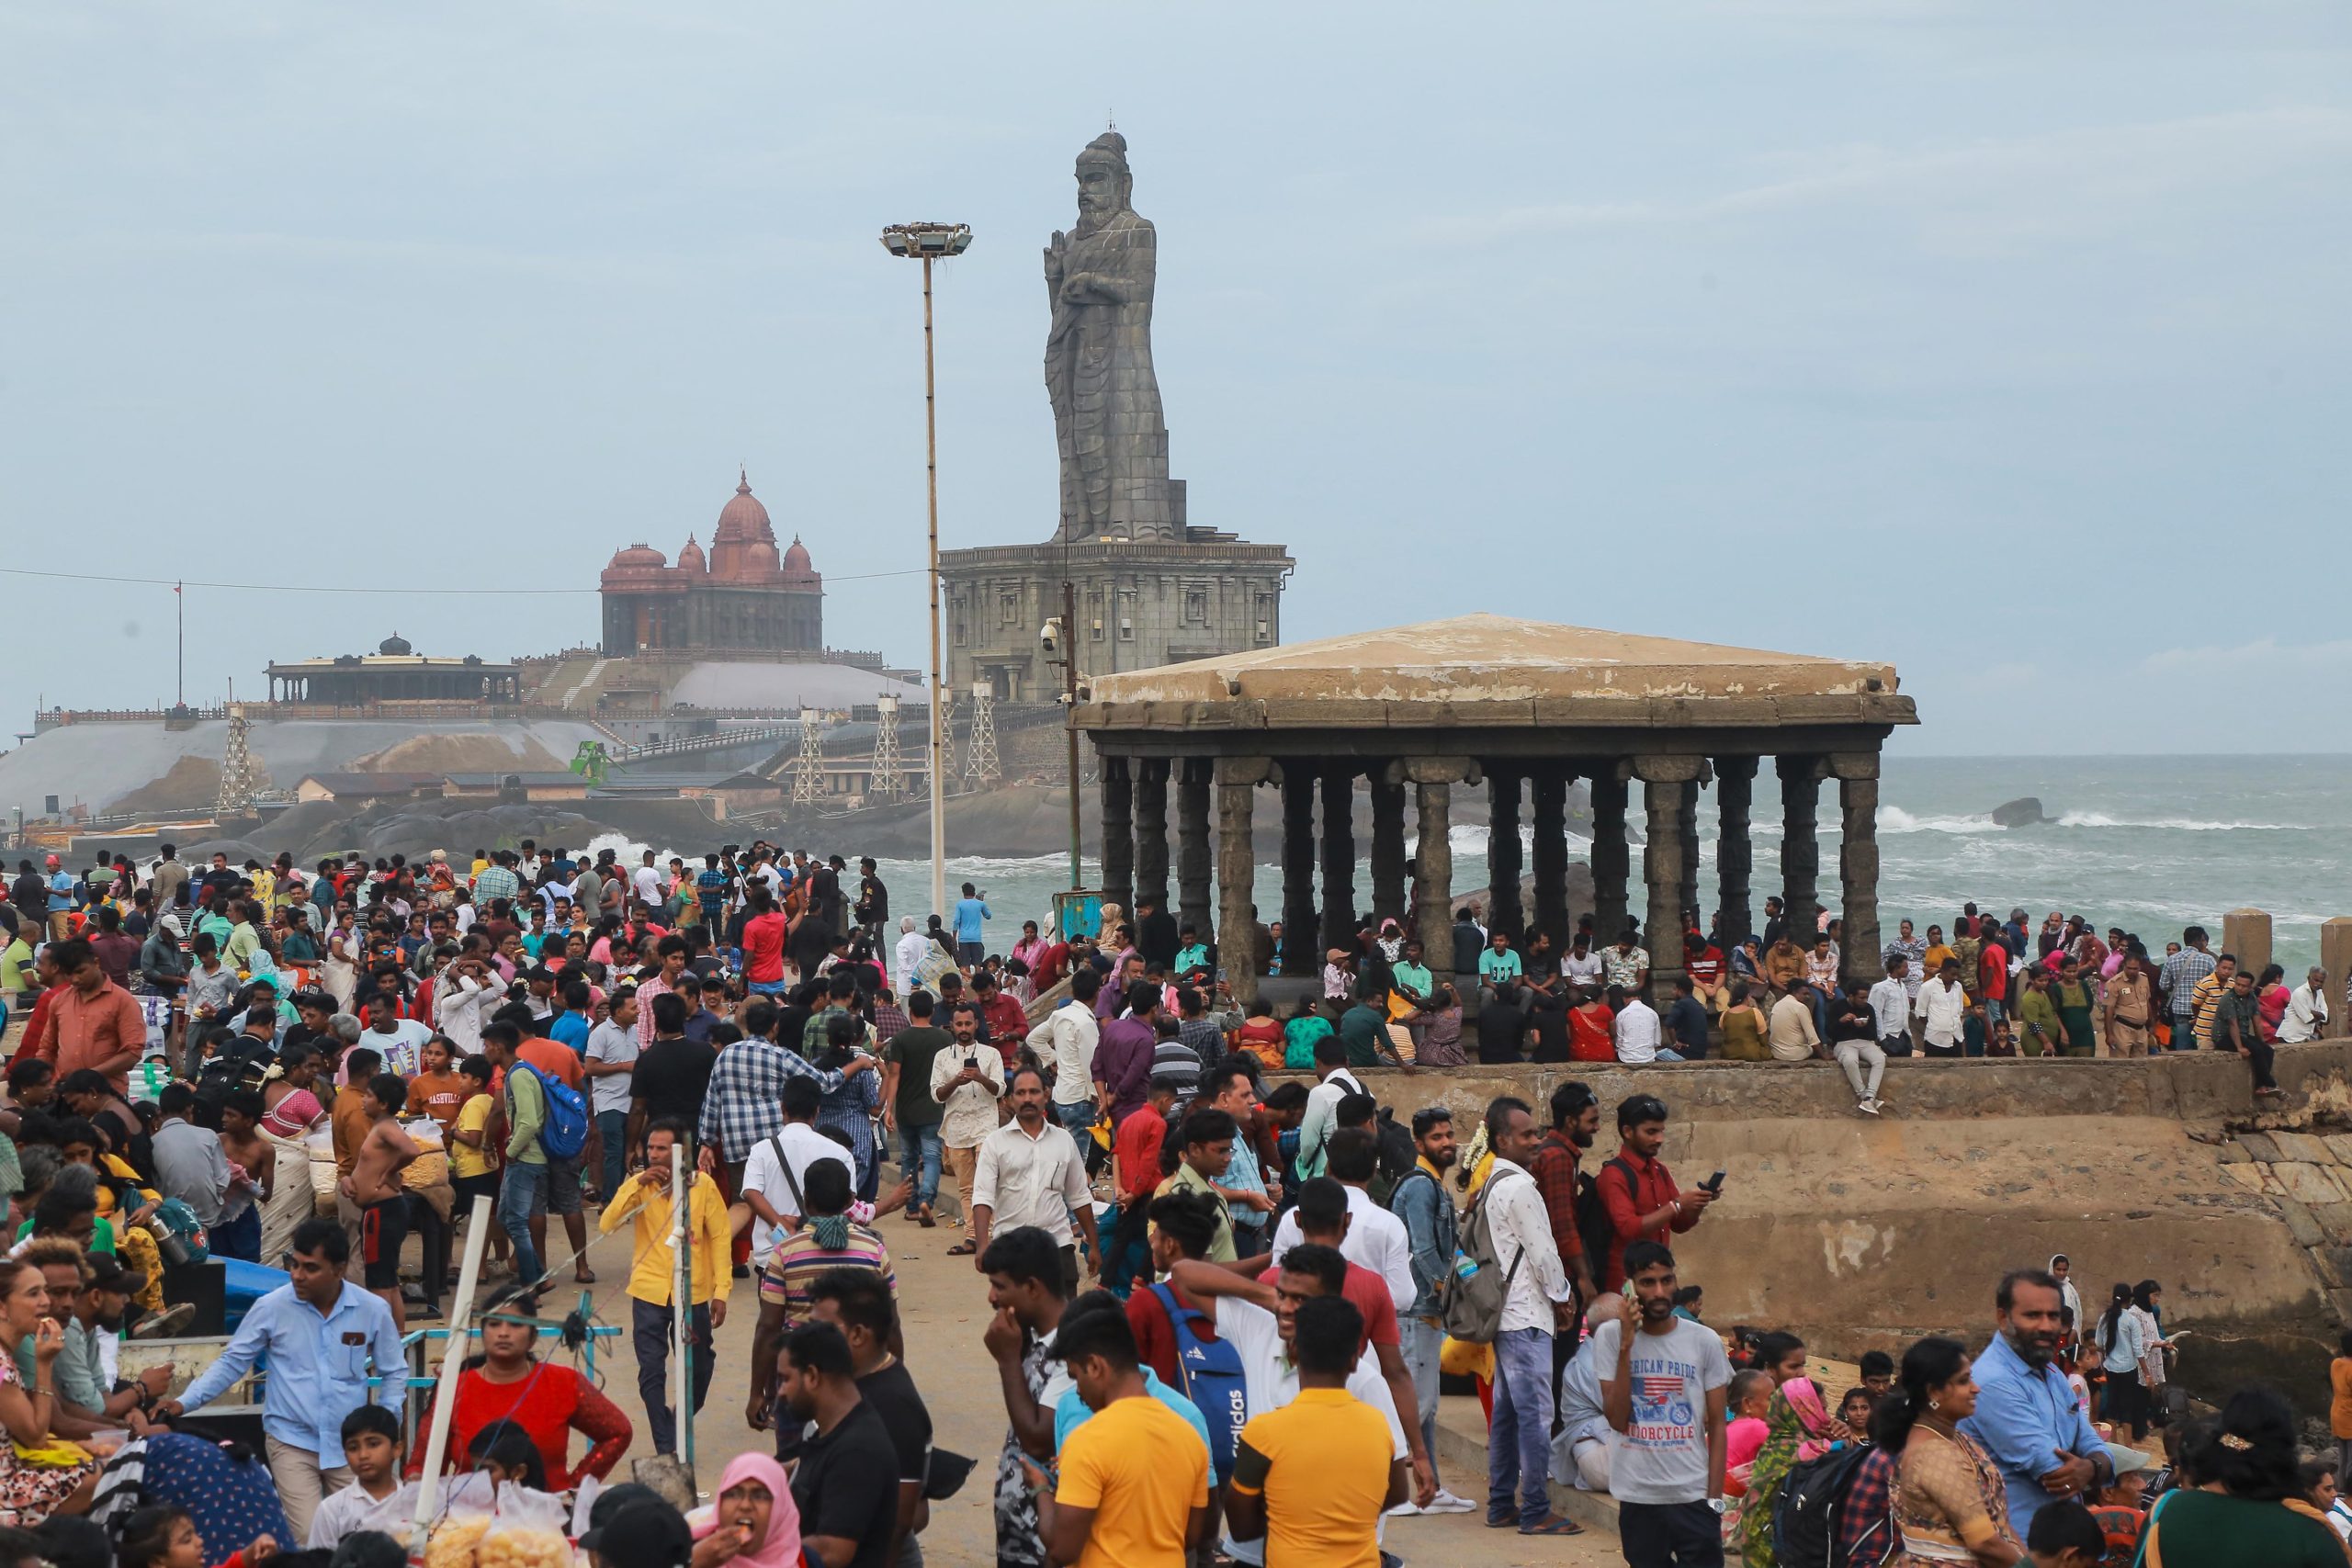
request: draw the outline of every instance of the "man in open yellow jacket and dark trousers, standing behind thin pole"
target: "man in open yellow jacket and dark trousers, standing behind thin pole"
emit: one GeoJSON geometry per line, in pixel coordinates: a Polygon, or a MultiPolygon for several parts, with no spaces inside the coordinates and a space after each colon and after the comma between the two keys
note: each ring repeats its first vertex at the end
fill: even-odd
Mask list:
{"type": "Polygon", "coordinates": [[[687,1145],[687,1173],[691,1178],[691,1204],[687,1208],[687,1251],[694,1279],[689,1286],[689,1338],[694,1363],[694,1413],[701,1415],[710,1396],[710,1331],[727,1321],[727,1284],[734,1276],[727,1229],[727,1199],[717,1182],[694,1168],[691,1133],[677,1121],[656,1121],[644,1135],[644,1171],[637,1171],[612,1194],[597,1229],[621,1229],[621,1220],[635,1215],[630,1232],[628,1298],[630,1298],[630,1345],[637,1347],[637,1396],[644,1401],[644,1427],[654,1439],[654,1453],[677,1453],[677,1415],[670,1410],[668,1359],[670,1359],[670,1291],[677,1281],[677,1253],[673,1248],[673,1194],[670,1150],[687,1145]]]}

